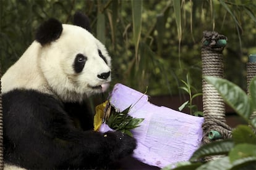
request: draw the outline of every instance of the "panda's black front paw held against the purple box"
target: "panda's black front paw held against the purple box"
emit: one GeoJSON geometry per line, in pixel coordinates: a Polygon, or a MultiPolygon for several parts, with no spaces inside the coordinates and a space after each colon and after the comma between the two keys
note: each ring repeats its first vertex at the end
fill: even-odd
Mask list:
{"type": "Polygon", "coordinates": [[[124,158],[132,154],[136,148],[136,140],[121,132],[106,132],[104,134],[107,145],[109,146],[109,153],[113,160],[124,158]]]}

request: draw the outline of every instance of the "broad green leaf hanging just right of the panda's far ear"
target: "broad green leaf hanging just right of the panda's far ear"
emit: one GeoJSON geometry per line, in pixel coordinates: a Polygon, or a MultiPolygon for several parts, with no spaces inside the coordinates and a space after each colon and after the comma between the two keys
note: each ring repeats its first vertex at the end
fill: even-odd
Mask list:
{"type": "Polygon", "coordinates": [[[105,15],[100,11],[98,11],[97,15],[97,39],[105,44],[105,15]]]}

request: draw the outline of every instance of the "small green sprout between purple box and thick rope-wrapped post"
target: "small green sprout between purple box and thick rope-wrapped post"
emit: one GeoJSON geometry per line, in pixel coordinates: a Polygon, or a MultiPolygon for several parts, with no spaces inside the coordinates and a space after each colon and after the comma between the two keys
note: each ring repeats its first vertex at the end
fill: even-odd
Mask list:
{"type": "Polygon", "coordinates": [[[198,111],[197,105],[193,105],[193,99],[195,97],[198,97],[200,95],[202,95],[202,93],[195,93],[192,94],[192,89],[195,89],[191,84],[191,78],[189,77],[189,74],[187,74],[187,82],[181,80],[182,83],[185,86],[181,86],[179,88],[183,89],[184,91],[187,92],[187,94],[189,94],[189,100],[187,100],[186,102],[184,102],[180,107],[179,107],[179,111],[182,111],[184,108],[188,107],[190,109],[190,115],[195,115],[195,116],[203,116],[203,112],[202,111],[198,111]]]}

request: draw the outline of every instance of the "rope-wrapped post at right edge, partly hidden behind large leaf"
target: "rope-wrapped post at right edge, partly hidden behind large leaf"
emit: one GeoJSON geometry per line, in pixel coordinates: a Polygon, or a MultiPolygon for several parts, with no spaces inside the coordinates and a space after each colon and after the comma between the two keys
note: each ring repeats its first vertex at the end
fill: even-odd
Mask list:
{"type": "MultiPolygon", "coordinates": [[[[249,62],[247,62],[247,94],[250,95],[249,87],[250,87],[250,81],[252,78],[256,76],[256,54],[249,55],[249,62]]],[[[256,111],[252,113],[250,116],[250,119],[255,118],[256,111]]],[[[256,132],[256,130],[254,129],[256,132]]]]}

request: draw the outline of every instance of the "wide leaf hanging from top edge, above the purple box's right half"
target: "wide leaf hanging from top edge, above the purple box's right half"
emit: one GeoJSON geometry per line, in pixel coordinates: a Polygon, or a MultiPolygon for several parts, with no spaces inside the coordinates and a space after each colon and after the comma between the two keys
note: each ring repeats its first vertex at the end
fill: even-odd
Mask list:
{"type": "Polygon", "coordinates": [[[178,38],[179,38],[179,41],[181,41],[182,29],[181,29],[181,1],[180,0],[173,1],[173,9],[174,9],[175,21],[177,25],[178,38]]]}

